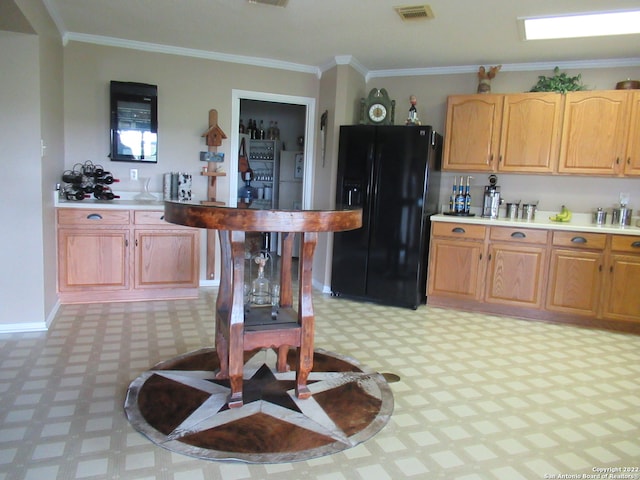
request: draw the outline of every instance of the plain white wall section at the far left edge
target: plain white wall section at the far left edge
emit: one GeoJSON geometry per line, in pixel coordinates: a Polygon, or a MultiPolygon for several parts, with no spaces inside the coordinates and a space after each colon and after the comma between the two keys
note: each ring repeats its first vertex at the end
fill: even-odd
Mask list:
{"type": "Polygon", "coordinates": [[[38,37],[0,31],[0,325],[44,328],[38,37]]]}

